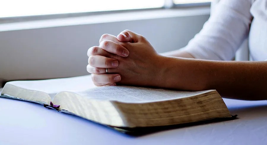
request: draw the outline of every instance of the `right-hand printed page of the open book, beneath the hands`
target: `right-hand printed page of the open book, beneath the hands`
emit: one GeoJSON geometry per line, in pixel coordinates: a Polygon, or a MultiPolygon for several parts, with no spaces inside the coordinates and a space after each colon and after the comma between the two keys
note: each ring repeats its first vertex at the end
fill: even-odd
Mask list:
{"type": "Polygon", "coordinates": [[[120,102],[136,103],[136,102],[164,101],[177,98],[186,98],[193,95],[207,93],[210,91],[213,90],[187,92],[187,91],[166,90],[159,88],[112,86],[112,87],[96,87],[75,93],[84,97],[98,99],[98,100],[114,100],[120,102]]]}

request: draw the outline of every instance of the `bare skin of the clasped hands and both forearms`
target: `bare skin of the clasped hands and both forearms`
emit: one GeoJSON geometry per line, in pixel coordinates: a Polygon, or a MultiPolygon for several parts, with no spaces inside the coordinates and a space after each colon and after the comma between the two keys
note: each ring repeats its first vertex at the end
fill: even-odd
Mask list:
{"type": "Polygon", "coordinates": [[[199,60],[180,50],[160,55],[147,39],[129,30],[117,37],[104,34],[88,56],[87,70],[97,86],[215,89],[227,98],[267,100],[265,61],[199,60]]]}

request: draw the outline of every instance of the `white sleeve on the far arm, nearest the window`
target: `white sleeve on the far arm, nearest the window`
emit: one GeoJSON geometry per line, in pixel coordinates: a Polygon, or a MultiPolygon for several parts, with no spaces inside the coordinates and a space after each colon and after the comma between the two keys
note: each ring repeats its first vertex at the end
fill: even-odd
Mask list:
{"type": "Polygon", "coordinates": [[[184,48],[197,59],[231,60],[249,34],[252,0],[221,0],[184,48]]]}

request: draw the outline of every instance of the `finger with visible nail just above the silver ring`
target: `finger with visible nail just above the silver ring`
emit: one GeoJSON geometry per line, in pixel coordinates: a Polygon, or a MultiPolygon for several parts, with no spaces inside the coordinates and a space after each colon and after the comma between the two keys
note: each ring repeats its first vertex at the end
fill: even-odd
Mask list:
{"type": "Polygon", "coordinates": [[[93,55],[88,58],[88,64],[98,68],[115,68],[119,65],[119,62],[114,58],[107,58],[102,55],[93,55]]]}

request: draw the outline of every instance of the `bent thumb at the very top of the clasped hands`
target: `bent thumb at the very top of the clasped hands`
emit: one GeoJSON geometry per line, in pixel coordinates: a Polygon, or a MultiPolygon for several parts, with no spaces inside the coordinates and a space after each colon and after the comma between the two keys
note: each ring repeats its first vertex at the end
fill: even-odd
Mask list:
{"type": "Polygon", "coordinates": [[[130,30],[124,30],[120,32],[120,34],[117,36],[117,39],[120,42],[131,42],[135,43],[139,40],[139,34],[136,34],[130,30]]]}

